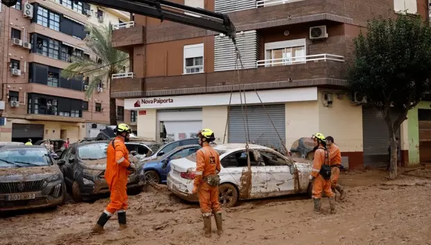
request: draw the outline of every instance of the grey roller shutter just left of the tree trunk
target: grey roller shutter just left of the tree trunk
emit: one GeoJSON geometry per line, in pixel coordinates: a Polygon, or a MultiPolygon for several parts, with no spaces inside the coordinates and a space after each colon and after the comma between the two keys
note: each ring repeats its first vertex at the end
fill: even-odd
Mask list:
{"type": "MultiPolygon", "coordinates": [[[[391,113],[391,120],[397,119],[391,113]]],[[[362,128],[364,136],[364,165],[383,167],[389,163],[389,130],[382,112],[376,108],[362,108],[362,128]]],[[[396,137],[401,139],[400,130],[396,137]]]]}

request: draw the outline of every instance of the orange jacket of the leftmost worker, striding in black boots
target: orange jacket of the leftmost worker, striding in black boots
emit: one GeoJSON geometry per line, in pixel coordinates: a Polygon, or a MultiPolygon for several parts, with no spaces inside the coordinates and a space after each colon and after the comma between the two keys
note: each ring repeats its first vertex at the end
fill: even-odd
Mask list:
{"type": "Polygon", "coordinates": [[[109,189],[112,189],[113,185],[127,186],[129,176],[127,168],[129,166],[129,151],[123,140],[116,137],[113,142],[109,142],[108,149],[106,149],[105,180],[109,189]]]}

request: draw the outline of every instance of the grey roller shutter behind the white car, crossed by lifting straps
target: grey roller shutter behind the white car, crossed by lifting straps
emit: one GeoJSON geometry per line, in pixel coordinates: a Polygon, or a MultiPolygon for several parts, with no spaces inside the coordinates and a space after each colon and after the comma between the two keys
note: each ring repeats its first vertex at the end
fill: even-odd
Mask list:
{"type": "MultiPolygon", "coordinates": [[[[285,105],[265,105],[271,120],[277,128],[282,140],[286,142],[286,109],[285,105]]],[[[244,109],[245,110],[245,109],[244,109]]],[[[268,147],[275,147],[284,151],[277,133],[270,119],[266,115],[262,105],[247,105],[248,128],[250,131],[250,142],[268,147]]],[[[244,119],[245,121],[245,119],[244,119]]],[[[243,113],[241,106],[232,106],[229,109],[228,140],[229,143],[244,143],[246,140],[244,132],[243,113]]]]}

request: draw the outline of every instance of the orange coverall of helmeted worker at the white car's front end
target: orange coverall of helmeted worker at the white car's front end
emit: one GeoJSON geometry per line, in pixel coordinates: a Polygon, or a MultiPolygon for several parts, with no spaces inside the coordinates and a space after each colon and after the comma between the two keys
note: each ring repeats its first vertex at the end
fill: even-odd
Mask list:
{"type": "Polygon", "coordinates": [[[325,180],[320,174],[322,164],[330,164],[329,155],[325,158],[325,149],[318,148],[314,153],[313,170],[311,176],[313,181],[313,198],[322,198],[322,193],[325,192],[327,197],[335,196],[331,189],[331,180],[325,180]]]}

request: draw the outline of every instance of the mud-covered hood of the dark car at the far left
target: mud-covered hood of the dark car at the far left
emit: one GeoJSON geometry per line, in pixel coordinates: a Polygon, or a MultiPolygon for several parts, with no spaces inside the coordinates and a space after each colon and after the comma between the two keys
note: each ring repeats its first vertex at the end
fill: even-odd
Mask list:
{"type": "Polygon", "coordinates": [[[60,174],[56,165],[43,167],[0,168],[0,181],[24,181],[42,179],[60,174]]]}

